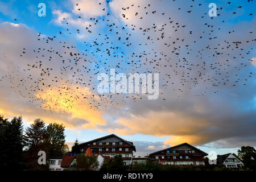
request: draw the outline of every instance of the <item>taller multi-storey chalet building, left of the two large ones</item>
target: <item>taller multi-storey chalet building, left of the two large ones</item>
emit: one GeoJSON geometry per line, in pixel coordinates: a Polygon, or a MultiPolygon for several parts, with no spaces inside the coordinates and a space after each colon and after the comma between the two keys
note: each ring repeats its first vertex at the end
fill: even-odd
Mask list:
{"type": "Polygon", "coordinates": [[[124,140],[115,134],[90,140],[89,142],[79,144],[79,146],[82,153],[85,153],[88,148],[91,148],[93,156],[97,156],[100,153],[102,156],[109,156],[110,159],[113,159],[115,155],[120,154],[123,157],[125,165],[131,164],[133,152],[136,151],[133,142],[124,140]]]}

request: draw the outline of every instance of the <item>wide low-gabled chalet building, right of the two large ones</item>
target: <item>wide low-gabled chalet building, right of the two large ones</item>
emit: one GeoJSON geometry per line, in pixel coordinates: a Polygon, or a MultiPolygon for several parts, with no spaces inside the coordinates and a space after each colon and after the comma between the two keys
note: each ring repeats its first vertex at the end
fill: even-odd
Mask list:
{"type": "Polygon", "coordinates": [[[208,154],[188,143],[151,153],[148,157],[160,164],[205,166],[208,154]]]}

